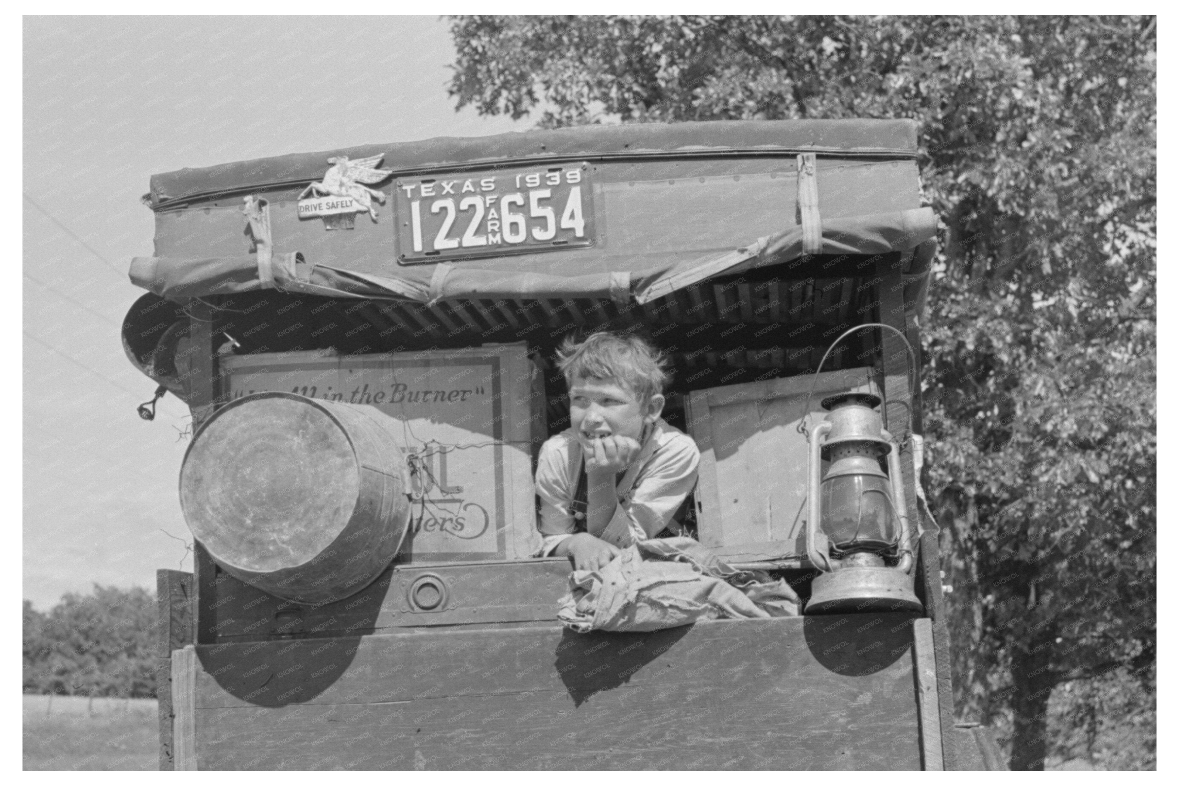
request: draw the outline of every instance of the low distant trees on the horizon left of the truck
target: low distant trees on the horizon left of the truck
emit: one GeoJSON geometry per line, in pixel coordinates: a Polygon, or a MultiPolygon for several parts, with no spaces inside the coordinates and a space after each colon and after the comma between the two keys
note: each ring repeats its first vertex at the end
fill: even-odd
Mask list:
{"type": "Polygon", "coordinates": [[[156,695],[156,598],[94,585],[41,614],[24,608],[24,689],[87,696],[156,695]]]}

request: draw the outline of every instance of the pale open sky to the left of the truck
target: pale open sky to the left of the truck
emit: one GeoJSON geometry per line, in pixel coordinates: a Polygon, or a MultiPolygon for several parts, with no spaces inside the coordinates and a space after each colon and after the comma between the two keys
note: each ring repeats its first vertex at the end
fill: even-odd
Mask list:
{"type": "Polygon", "coordinates": [[[25,17],[22,48],[22,583],[44,610],[192,569],[189,411],[136,414],[156,384],[119,339],[149,177],[533,120],[455,112],[437,17],[25,17]]]}

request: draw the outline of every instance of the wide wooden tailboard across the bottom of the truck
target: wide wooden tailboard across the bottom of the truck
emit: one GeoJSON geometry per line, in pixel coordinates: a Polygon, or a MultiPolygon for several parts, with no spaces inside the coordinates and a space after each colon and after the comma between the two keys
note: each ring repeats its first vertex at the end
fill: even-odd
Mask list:
{"type": "Polygon", "coordinates": [[[905,615],[200,647],[198,756],[202,769],[916,769],[911,648],[905,615]]]}

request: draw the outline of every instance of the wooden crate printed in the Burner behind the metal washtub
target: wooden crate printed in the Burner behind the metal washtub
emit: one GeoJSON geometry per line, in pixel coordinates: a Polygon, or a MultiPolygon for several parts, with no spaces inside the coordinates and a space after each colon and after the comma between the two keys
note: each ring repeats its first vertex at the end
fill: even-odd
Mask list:
{"type": "Polygon", "coordinates": [[[230,399],[283,391],[371,406],[397,421],[420,499],[399,562],[522,559],[539,546],[532,483],[546,435],[525,345],[222,360],[230,399]]]}

